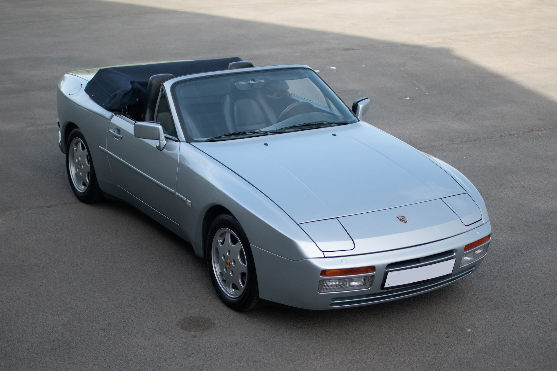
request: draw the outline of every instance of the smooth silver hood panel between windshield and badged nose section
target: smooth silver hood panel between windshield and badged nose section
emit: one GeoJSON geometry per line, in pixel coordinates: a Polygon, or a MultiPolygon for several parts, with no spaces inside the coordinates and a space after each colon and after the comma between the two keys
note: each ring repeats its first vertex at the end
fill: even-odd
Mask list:
{"type": "Polygon", "coordinates": [[[426,155],[363,121],[192,144],[266,194],[297,223],[466,193],[426,155]]]}

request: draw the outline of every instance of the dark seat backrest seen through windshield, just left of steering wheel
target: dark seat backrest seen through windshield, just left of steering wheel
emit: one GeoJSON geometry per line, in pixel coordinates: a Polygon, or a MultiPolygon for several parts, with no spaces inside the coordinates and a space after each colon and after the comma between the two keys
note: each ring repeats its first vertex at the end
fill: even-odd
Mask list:
{"type": "Polygon", "coordinates": [[[248,90],[238,96],[227,94],[224,96],[223,109],[224,119],[231,133],[262,129],[277,122],[275,111],[259,89],[248,90]]]}

